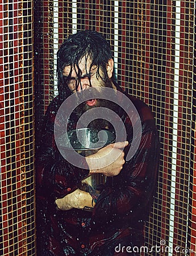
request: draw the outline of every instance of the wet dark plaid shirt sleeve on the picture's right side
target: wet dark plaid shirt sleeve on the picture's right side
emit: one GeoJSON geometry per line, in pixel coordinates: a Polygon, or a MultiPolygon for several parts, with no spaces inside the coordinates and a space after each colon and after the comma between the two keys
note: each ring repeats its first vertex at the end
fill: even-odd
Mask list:
{"type": "Polygon", "coordinates": [[[94,223],[112,222],[115,216],[136,221],[145,215],[143,211],[151,203],[159,166],[159,135],[151,123],[154,120],[143,123],[136,154],[124,164],[119,175],[109,178],[95,205],[94,223]]]}

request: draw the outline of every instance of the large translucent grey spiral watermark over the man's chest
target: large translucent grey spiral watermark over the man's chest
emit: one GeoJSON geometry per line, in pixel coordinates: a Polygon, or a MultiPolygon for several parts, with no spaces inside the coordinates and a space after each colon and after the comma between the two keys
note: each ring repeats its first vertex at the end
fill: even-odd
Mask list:
{"type": "MultiPolygon", "coordinates": [[[[126,113],[127,117],[130,118],[132,123],[132,138],[128,138],[130,139],[131,145],[127,152],[126,161],[130,160],[135,155],[141,141],[140,116],[130,98],[128,98],[125,94],[111,88],[88,88],[82,92],[72,94],[61,104],[56,114],[54,126],[55,141],[61,155],[74,166],[79,168],[87,168],[85,165],[84,156],[78,154],[70,143],[68,144],[68,147],[65,147],[64,140],[68,140],[68,120],[70,115],[74,112],[74,109],[76,109],[78,105],[83,104],[92,98],[114,102],[116,105],[119,105],[124,113],[126,113]]],[[[81,128],[81,125],[83,125],[85,128],[91,121],[98,118],[109,121],[114,127],[115,142],[127,141],[127,131],[122,119],[113,110],[107,108],[106,112],[106,108],[101,106],[91,108],[82,114],[78,120],[76,129],[78,129],[78,127],[81,128]]],[[[104,133],[104,130],[102,130],[101,133],[104,133]]],[[[105,142],[106,141],[107,134],[105,135],[105,142]]],[[[105,143],[103,143],[103,146],[104,145],[105,143]]],[[[107,162],[107,165],[114,162],[118,157],[119,155],[115,156],[115,159],[111,159],[110,163],[107,162]]],[[[102,159],[99,159],[99,168],[103,167],[106,167],[105,162],[102,161],[102,159]]]]}

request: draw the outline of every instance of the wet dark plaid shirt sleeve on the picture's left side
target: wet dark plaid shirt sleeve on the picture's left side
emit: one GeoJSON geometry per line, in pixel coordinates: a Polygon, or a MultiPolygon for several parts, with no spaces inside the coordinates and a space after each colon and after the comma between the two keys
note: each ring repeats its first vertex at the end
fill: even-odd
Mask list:
{"type": "Polygon", "coordinates": [[[86,164],[86,169],[77,168],[66,161],[56,147],[56,112],[52,102],[44,117],[36,164],[37,194],[52,201],[76,190],[77,184],[89,174],[85,160],[83,164],[86,164]]]}

